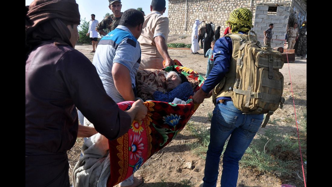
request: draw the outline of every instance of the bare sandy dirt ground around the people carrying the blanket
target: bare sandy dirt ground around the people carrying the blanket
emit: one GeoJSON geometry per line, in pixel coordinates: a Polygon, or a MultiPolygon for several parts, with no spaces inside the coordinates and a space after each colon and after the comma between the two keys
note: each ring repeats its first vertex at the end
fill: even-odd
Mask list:
{"type": "MultiPolygon", "coordinates": [[[[178,37],[169,37],[168,43],[191,43],[190,37],[177,40],[178,37]]],[[[86,55],[90,61],[93,59],[94,53],[89,53],[92,50],[91,45],[76,45],[75,49],[86,55]]],[[[169,49],[168,50],[172,59],[179,60],[183,66],[191,68],[205,76],[207,69],[207,59],[203,57],[203,49],[199,50],[200,54],[193,55],[190,50],[169,49]]],[[[295,109],[300,110],[306,108],[306,59],[296,58],[294,63],[287,64],[281,69],[284,75],[284,97],[291,95],[291,87],[293,89],[295,98],[295,109]],[[291,76],[291,81],[290,81],[291,76]],[[289,83],[292,83],[289,85],[289,83]]],[[[212,112],[214,105],[211,98],[207,98],[200,105],[190,121],[194,125],[203,125],[207,128],[210,126],[208,120],[208,112],[212,112]]],[[[294,114],[293,101],[287,99],[284,108],[278,109],[271,118],[282,118],[294,114]]],[[[271,119],[270,119],[271,120],[271,119]]],[[[273,124],[268,124],[265,129],[274,128],[273,124]]],[[[262,133],[265,129],[260,129],[258,133],[262,133]]],[[[286,131],[296,132],[296,126],[285,128],[286,131]]],[[[200,156],[194,154],[188,144],[197,142],[194,136],[190,135],[186,128],[166,147],[152,156],[151,161],[144,163],[144,165],[135,173],[135,176],[141,175],[143,177],[142,187],[162,187],[162,186],[188,186],[192,185],[198,187],[204,177],[205,160],[200,156]],[[183,165],[186,162],[193,162],[193,169],[184,169],[183,165]],[[188,185],[184,184],[184,181],[188,185]]],[[[68,151],[69,163],[71,169],[69,175],[72,175],[72,169],[75,166],[80,148],[83,143],[82,138],[78,138],[74,147],[68,151]]],[[[206,153],[202,153],[206,154],[206,153]]],[[[219,176],[217,184],[220,185],[220,176],[222,169],[221,162],[219,165],[219,176]]],[[[297,177],[297,176],[296,176],[297,177]]],[[[281,184],[292,184],[297,187],[304,186],[299,178],[298,181],[281,181],[271,175],[259,174],[248,168],[240,168],[238,185],[240,187],[279,187],[281,184]]],[[[72,182],[72,181],[71,181],[72,182]]]]}

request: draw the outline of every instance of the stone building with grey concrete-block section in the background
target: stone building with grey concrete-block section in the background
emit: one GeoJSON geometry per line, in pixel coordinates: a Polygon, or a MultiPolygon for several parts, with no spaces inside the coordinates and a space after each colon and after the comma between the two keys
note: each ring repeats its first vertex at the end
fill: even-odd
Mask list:
{"type": "Polygon", "coordinates": [[[306,0],[169,0],[169,35],[191,36],[196,18],[206,23],[212,22],[215,29],[220,26],[222,35],[229,14],[239,7],[252,11],[253,31],[257,33],[260,42],[263,42],[264,30],[270,23],[274,24],[271,47],[283,46],[290,10],[296,11],[299,24],[306,20],[306,0]]]}

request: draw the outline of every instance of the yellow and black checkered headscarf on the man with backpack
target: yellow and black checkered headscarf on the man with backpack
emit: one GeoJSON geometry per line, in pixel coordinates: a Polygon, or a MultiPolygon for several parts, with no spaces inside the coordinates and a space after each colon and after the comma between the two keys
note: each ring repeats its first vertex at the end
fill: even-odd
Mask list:
{"type": "Polygon", "coordinates": [[[230,24],[232,33],[239,31],[248,32],[252,27],[252,13],[247,8],[237,8],[233,10],[226,24],[230,24]]]}

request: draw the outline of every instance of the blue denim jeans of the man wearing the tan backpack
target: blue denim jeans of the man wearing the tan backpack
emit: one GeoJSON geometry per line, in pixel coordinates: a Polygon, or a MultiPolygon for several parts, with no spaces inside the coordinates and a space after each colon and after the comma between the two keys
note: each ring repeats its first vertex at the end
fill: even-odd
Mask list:
{"type": "Polygon", "coordinates": [[[221,187],[236,187],[239,161],[263,122],[264,114],[242,114],[233,101],[217,102],[212,115],[210,143],[204,171],[204,187],[215,187],[220,156],[230,136],[222,158],[221,187]]]}

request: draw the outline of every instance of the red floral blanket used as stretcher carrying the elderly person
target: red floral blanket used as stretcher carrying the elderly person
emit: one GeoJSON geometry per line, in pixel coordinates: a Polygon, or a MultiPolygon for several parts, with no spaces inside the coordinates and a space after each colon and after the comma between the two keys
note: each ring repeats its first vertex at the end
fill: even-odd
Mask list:
{"type": "MultiPolygon", "coordinates": [[[[181,65],[181,64],[180,64],[181,65]]],[[[194,92],[204,84],[204,78],[194,70],[183,66],[170,66],[163,69],[175,70],[196,80],[194,92]]],[[[133,101],[118,103],[119,108],[128,110],[133,101]]],[[[173,104],[161,101],[146,101],[148,113],[142,121],[133,121],[126,134],[109,140],[111,174],[107,186],[113,187],[139,169],[155,152],[165,147],[185,127],[199,104],[194,104],[192,96],[186,104],[173,104]]]]}

